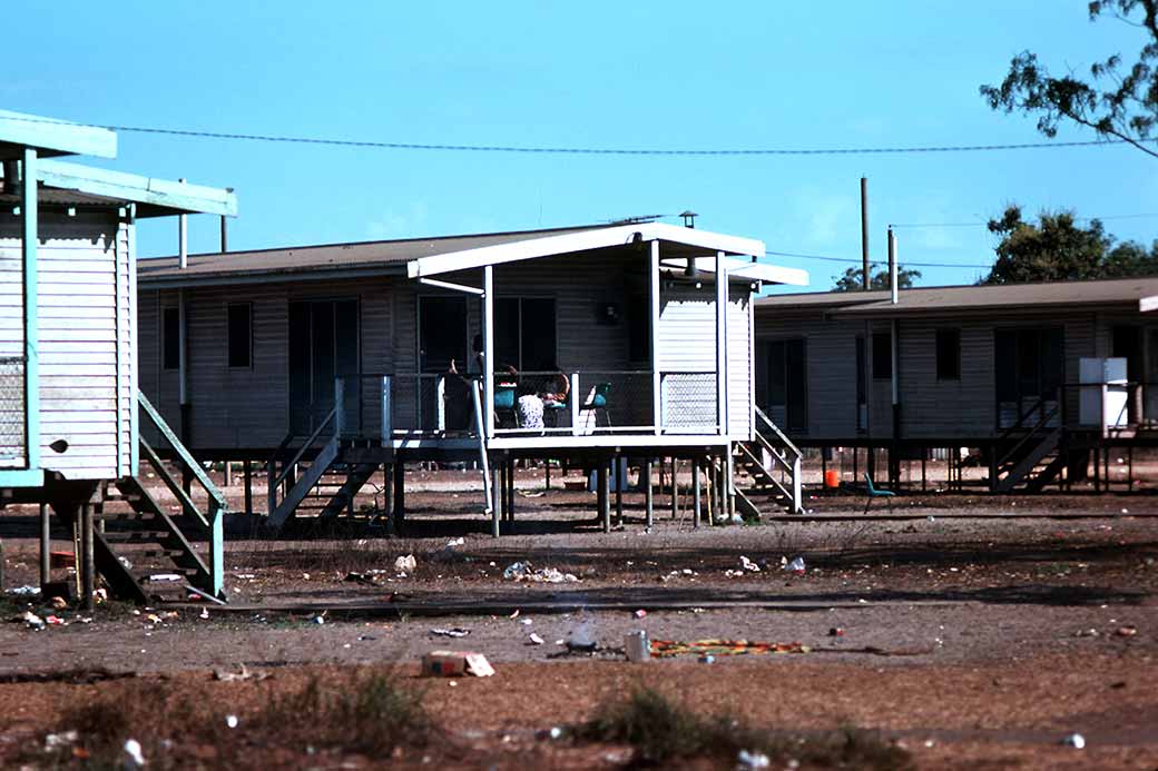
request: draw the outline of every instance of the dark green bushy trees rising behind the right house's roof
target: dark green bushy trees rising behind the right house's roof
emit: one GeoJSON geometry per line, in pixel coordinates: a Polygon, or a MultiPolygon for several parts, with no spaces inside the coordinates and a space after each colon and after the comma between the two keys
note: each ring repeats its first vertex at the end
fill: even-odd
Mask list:
{"type": "Polygon", "coordinates": [[[1158,241],[1148,250],[1139,243],[1116,243],[1101,222],[1080,227],[1073,212],[1042,212],[1026,222],[1021,207],[1009,206],[989,221],[999,236],[997,260],[982,284],[1070,281],[1158,274],[1158,241]]]}

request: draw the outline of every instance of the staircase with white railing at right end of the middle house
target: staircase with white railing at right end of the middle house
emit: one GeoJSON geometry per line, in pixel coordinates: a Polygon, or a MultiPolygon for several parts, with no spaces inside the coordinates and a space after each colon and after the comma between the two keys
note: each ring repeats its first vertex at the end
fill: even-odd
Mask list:
{"type": "Polygon", "coordinates": [[[746,520],[758,520],[761,506],[802,514],[800,449],[760,407],[755,413],[755,441],[732,447],[736,511],[746,520]]]}

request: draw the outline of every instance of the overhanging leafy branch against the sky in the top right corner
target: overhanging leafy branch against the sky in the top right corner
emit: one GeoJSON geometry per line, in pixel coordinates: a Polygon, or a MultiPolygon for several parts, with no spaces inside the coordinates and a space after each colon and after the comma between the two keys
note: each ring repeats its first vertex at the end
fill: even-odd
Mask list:
{"type": "Polygon", "coordinates": [[[1158,157],[1151,141],[1158,134],[1158,0],[1094,0],[1089,10],[1090,21],[1113,16],[1144,31],[1146,41],[1135,63],[1123,65],[1121,53],[1114,53],[1090,67],[1086,82],[1073,75],[1054,78],[1036,54],[1024,51],[1013,58],[1001,86],[982,86],[981,95],[994,110],[1038,115],[1038,131],[1047,137],[1055,137],[1058,124],[1069,120],[1158,157]]]}

